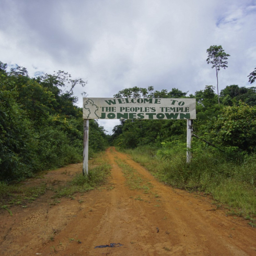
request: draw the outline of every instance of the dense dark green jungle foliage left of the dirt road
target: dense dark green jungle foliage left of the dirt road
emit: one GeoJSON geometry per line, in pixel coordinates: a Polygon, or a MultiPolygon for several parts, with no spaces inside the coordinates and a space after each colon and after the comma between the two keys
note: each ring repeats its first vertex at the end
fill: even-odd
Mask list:
{"type": "MultiPolygon", "coordinates": [[[[7,72],[0,62],[0,181],[82,160],[82,108],[73,89],[85,84],[64,71],[30,78],[26,68],[7,72]]],[[[106,148],[107,136],[97,121],[89,125],[91,156],[106,148]]]]}

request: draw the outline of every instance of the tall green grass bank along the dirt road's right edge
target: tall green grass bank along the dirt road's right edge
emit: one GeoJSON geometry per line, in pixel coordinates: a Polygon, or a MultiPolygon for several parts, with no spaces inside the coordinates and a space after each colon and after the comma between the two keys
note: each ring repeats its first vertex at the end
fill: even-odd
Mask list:
{"type": "MultiPolygon", "coordinates": [[[[170,145],[169,145],[170,146],[170,145]]],[[[227,211],[256,226],[256,154],[230,157],[207,147],[196,148],[186,164],[184,145],[152,151],[150,146],[123,150],[159,181],[188,191],[199,191],[225,204],[227,211]]]]}

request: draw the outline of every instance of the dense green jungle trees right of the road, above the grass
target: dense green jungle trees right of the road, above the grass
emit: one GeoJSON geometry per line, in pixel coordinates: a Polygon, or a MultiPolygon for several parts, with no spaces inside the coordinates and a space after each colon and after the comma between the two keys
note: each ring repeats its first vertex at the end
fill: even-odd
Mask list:
{"type": "MultiPolygon", "coordinates": [[[[186,96],[177,88],[171,91],[154,91],[153,87],[127,88],[114,97],[195,98],[197,119],[193,132],[225,150],[253,152],[256,149],[256,88],[230,85],[221,91],[220,101],[214,87],[186,96]]],[[[185,142],[184,120],[120,120],[113,129],[112,142],[122,148],[137,146],[161,146],[162,142],[185,142]]]]}

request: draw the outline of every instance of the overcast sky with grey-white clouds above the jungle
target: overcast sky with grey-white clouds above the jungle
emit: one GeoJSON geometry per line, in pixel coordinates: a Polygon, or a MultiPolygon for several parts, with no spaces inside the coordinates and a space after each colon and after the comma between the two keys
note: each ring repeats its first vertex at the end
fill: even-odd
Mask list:
{"type": "MultiPolygon", "coordinates": [[[[0,61],[31,77],[69,72],[89,97],[130,87],[216,85],[206,50],[230,54],[219,90],[251,86],[256,67],[256,0],[0,0],[0,61]]],[[[101,120],[111,132],[118,120],[101,120]]]]}

